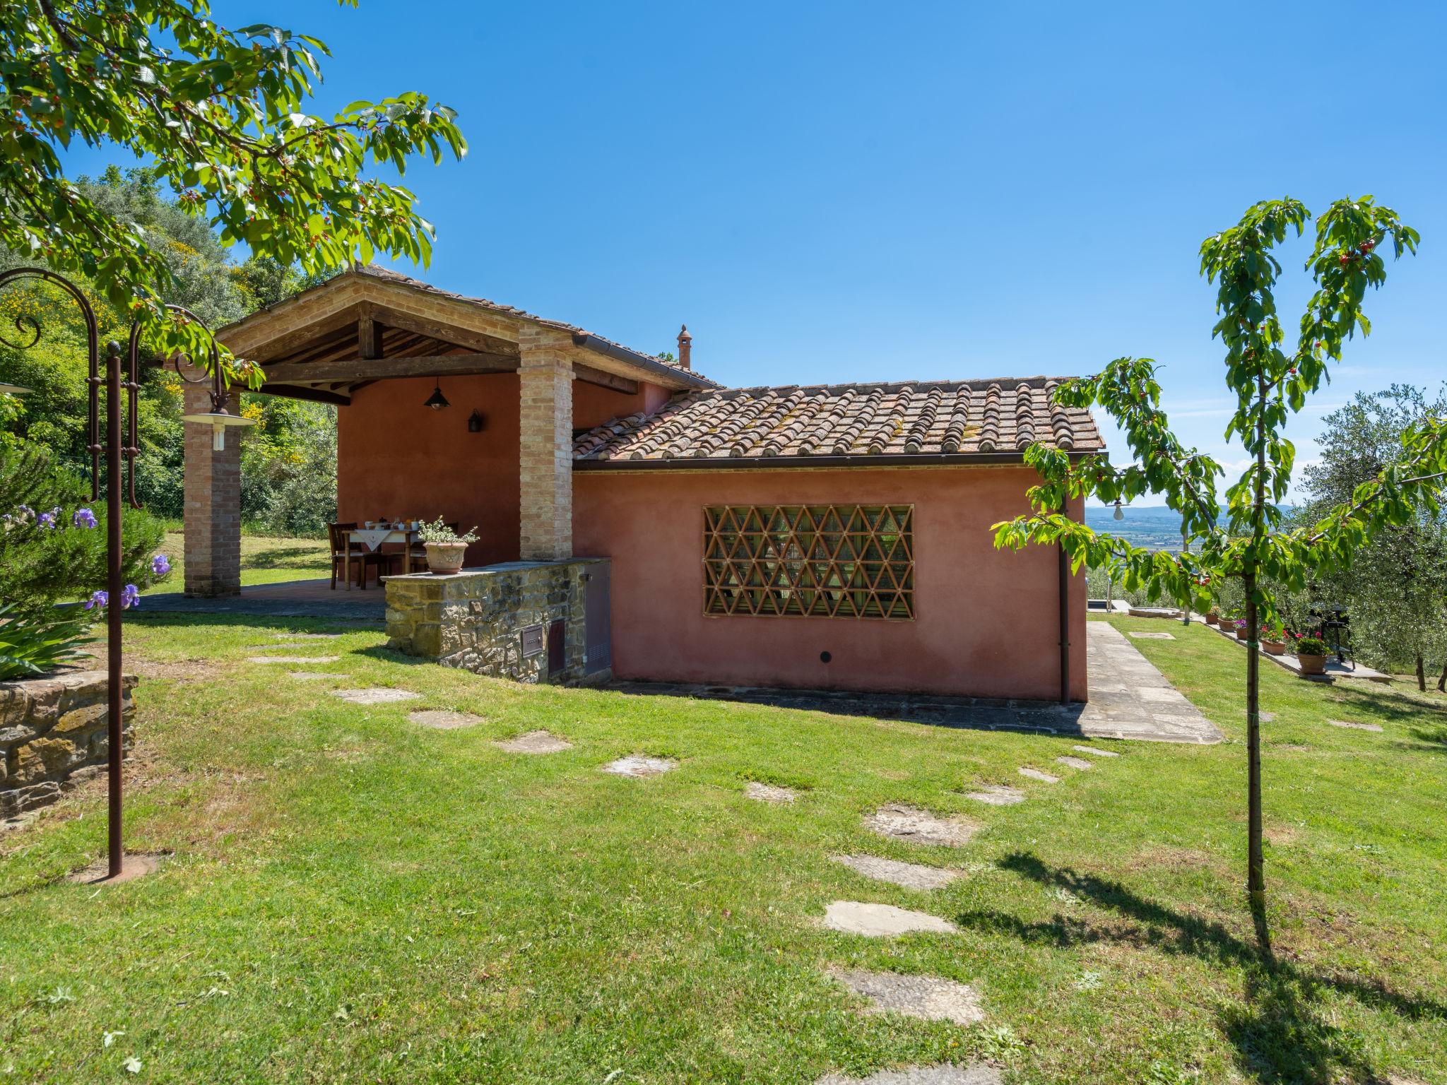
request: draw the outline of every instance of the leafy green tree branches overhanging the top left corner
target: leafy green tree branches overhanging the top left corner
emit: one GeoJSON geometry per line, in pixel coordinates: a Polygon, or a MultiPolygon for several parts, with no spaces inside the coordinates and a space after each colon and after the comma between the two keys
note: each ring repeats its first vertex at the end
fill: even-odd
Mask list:
{"type": "MultiPolygon", "coordinates": [[[[91,279],[142,320],[155,350],[207,357],[208,333],[165,308],[177,284],[146,233],[67,179],[59,150],[80,140],[153,162],[223,243],[284,266],[317,273],[375,253],[425,265],[434,231],[415,197],[365,171],[463,158],[456,114],[414,91],[305,113],[328,55],[317,38],[276,26],[227,29],[207,0],[4,4],[0,244],[91,279]]],[[[237,373],[260,385],[256,367],[237,373]]]]}

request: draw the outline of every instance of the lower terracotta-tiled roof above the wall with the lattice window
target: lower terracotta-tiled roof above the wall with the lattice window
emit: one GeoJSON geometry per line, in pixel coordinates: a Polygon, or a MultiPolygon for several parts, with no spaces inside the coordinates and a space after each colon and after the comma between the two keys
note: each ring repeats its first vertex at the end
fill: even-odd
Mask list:
{"type": "Polygon", "coordinates": [[[789,456],[1019,454],[1032,441],[1106,446],[1090,411],[1051,402],[1066,378],[728,388],[676,395],[573,441],[573,459],[737,460],[789,456]]]}

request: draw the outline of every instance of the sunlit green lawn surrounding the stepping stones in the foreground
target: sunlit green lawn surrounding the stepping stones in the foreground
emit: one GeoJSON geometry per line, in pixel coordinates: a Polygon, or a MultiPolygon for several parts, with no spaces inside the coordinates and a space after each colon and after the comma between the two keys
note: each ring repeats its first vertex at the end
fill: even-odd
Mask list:
{"type": "Polygon", "coordinates": [[[1447,699],[1263,665],[1268,953],[1242,893],[1242,652],[1113,621],[1176,632],[1139,647],[1227,742],[1116,742],[1075,771],[1053,764],[1066,739],[522,687],[381,632],[295,650],[341,657],[307,683],[246,645],[321,622],[142,613],[137,655],[214,665],[137,693],[129,841],[174,855],[61,881],[103,851],[98,788],[0,836],[0,1081],[805,1084],[987,1058],[1040,1085],[1447,1082],[1447,699]],[[327,696],[356,686],[424,697],[327,696]],[[423,729],[417,707],[486,722],[423,729]],[[534,728],[574,745],[491,745],[534,728]],[[631,752],[682,764],[599,771],[631,752]],[[745,780],[803,796],[754,803],[745,780]],[[1029,797],[981,806],[974,783],[1029,797]],[[861,827],[896,801],[984,827],[961,849],[861,827]],[[917,893],[829,861],[845,851],[967,877],[917,893]],[[833,900],[961,933],[829,932],[833,900]],[[988,1018],[867,1016],[832,965],[975,984],[988,1018]]]}

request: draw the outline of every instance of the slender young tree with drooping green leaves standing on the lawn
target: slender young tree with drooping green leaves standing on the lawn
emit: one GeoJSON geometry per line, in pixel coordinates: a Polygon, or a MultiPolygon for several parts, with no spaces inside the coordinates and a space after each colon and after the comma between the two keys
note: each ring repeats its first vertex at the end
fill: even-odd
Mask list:
{"type": "Polygon", "coordinates": [[[1104,454],[1072,463],[1065,451],[1032,446],[1026,460],[1040,475],[1030,490],[1033,512],[994,525],[997,547],[1059,544],[1077,570],[1104,567],[1127,589],[1143,587],[1198,610],[1210,606],[1214,583],[1240,582],[1249,628],[1247,891],[1256,909],[1266,898],[1257,642],[1262,624],[1276,619],[1272,584],[1297,590],[1314,573],[1349,566],[1353,550],[1388,525],[1411,521],[1422,505],[1435,509],[1447,479],[1447,421],[1422,418],[1402,433],[1396,460],[1356,486],[1349,499],[1315,524],[1283,522],[1279,505],[1295,466],[1295,448],[1283,435],[1286,421],[1327,379],[1346,341],[1356,331],[1370,331],[1362,301],[1369,288],[1386,281],[1379,250],[1391,246],[1401,258],[1415,252],[1418,242],[1415,230],[1372,197],[1333,203],[1314,223],[1305,269],[1315,291],[1301,315],[1297,341],[1288,347],[1275,299],[1282,268],[1272,250],[1289,234],[1304,233],[1310,221],[1299,201],[1268,200],[1201,244],[1201,273],[1217,284],[1213,336],[1226,347],[1224,379],[1236,398],[1226,437],[1239,438],[1252,457],[1226,490],[1224,522],[1217,496],[1224,469],[1172,433],[1160,409],[1155,362],[1120,357],[1095,376],[1062,385],[1055,399],[1106,409],[1124,433],[1133,463],[1116,467],[1104,454]],[[1181,514],[1188,553],[1136,547],[1059,512],[1072,496],[1094,495],[1111,503],[1146,493],[1162,495],[1181,514]]]}

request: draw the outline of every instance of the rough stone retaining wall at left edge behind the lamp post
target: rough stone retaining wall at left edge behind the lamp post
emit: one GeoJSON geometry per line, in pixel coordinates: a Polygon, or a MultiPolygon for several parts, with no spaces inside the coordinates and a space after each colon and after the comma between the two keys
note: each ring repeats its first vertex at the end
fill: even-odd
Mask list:
{"type": "MultiPolygon", "coordinates": [[[[129,748],[136,676],[123,677],[129,748]]],[[[103,773],[109,755],[106,671],[0,681],[0,817],[54,803],[67,784],[103,773]]]]}

